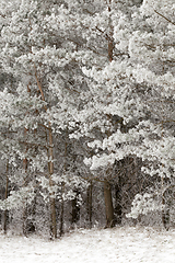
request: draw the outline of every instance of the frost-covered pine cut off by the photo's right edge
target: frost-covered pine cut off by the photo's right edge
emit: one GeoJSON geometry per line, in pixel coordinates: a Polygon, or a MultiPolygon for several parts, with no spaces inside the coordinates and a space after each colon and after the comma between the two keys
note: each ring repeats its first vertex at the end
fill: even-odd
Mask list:
{"type": "Polygon", "coordinates": [[[174,220],[167,215],[167,210],[170,214],[174,210],[174,1],[143,1],[140,13],[132,18],[133,22],[140,22],[140,26],[129,41],[130,57],[137,62],[133,78],[138,89],[148,89],[143,100],[150,113],[149,119],[141,123],[143,139],[135,153],[149,160],[143,171],[160,179],[159,188],[155,185],[151,194],[136,196],[131,215],[137,217],[150,210],[163,209],[165,227],[171,219],[174,220]],[[172,196],[168,196],[168,192],[172,196]]]}

